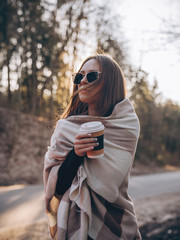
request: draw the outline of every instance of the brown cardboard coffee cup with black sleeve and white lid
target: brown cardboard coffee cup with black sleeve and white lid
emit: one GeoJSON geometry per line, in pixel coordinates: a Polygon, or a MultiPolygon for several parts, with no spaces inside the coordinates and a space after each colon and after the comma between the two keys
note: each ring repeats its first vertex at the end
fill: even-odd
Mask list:
{"type": "Polygon", "coordinates": [[[101,122],[93,121],[83,123],[80,132],[91,133],[91,137],[97,138],[98,146],[90,152],[87,152],[88,158],[99,158],[104,156],[104,125],[101,122]]]}

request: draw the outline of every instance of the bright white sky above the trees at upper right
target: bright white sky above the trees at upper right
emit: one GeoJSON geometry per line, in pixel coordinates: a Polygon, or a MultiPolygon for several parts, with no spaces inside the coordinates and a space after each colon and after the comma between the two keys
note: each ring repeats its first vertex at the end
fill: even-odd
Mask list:
{"type": "Polygon", "coordinates": [[[150,84],[156,78],[163,100],[180,104],[180,44],[162,35],[167,24],[177,21],[180,32],[179,0],[114,0],[114,6],[122,16],[131,63],[149,73],[150,84]]]}

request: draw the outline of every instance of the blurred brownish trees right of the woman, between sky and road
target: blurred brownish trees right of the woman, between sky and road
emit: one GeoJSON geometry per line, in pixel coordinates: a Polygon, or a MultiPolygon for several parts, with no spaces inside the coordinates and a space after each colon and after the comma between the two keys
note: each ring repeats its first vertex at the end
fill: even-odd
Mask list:
{"type": "Polygon", "coordinates": [[[150,87],[147,73],[138,69],[131,100],[140,120],[136,158],[144,164],[179,164],[180,107],[171,101],[157,103],[157,83],[150,87]]]}

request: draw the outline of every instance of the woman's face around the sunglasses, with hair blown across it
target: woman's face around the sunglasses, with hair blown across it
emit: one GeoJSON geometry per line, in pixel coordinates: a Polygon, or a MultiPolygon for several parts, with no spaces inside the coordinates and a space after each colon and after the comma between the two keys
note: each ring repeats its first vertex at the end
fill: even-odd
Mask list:
{"type": "Polygon", "coordinates": [[[81,83],[78,85],[79,99],[81,102],[87,103],[89,107],[92,105],[96,106],[98,104],[97,101],[100,99],[100,90],[102,88],[101,85],[98,85],[84,89],[84,87],[89,84],[86,74],[92,71],[101,72],[101,66],[96,59],[88,60],[79,71],[80,73],[85,74],[84,78],[81,80],[81,83]]]}

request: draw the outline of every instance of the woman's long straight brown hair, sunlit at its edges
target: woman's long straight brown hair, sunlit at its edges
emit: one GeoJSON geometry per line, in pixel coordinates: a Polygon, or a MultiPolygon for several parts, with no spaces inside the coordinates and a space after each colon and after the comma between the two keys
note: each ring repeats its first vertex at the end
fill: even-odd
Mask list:
{"type": "MultiPolygon", "coordinates": [[[[118,63],[106,54],[97,54],[86,58],[81,64],[79,71],[91,59],[95,59],[100,63],[101,77],[97,81],[88,84],[87,87],[95,87],[102,84],[100,93],[102,101],[98,103],[97,111],[101,116],[106,117],[112,113],[114,106],[125,98],[124,76],[118,63]]],[[[88,104],[80,101],[78,87],[74,85],[71,101],[61,118],[80,114],[88,114],[88,104]]]]}

